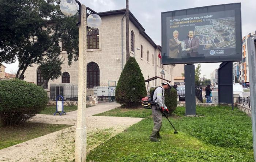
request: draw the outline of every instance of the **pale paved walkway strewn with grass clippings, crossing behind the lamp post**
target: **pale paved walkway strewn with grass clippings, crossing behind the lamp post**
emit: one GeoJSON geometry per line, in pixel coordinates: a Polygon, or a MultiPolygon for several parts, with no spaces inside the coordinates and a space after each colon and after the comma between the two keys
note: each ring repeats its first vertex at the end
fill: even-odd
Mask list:
{"type": "MultiPolygon", "coordinates": [[[[117,103],[86,108],[87,152],[124,131],[142,118],[92,116],[119,107],[117,103]],[[103,141],[98,135],[109,134],[103,141]]],[[[63,116],[37,114],[30,122],[75,125],[77,111],[63,116]]],[[[72,126],[15,146],[0,150],[0,161],[73,161],[75,158],[75,128],[72,126]]]]}

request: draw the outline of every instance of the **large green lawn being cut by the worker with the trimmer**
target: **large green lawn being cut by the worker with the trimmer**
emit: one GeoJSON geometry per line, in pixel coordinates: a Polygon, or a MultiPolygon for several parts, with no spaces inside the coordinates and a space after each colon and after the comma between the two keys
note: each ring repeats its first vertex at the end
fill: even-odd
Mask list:
{"type": "Polygon", "coordinates": [[[173,134],[169,122],[163,119],[159,143],[148,140],[153,127],[148,116],[96,147],[87,161],[254,161],[250,117],[231,107],[197,107],[196,111],[204,117],[184,117],[184,107],[178,107],[169,117],[178,134],[173,134]]]}

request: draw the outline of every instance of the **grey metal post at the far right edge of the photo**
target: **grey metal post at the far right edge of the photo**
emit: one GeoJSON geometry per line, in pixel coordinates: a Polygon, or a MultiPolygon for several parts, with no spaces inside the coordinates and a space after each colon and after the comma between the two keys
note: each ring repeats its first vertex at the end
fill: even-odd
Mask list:
{"type": "Polygon", "coordinates": [[[249,76],[250,76],[250,96],[252,109],[252,137],[254,160],[256,161],[256,56],[255,56],[255,39],[256,37],[247,38],[248,60],[249,60],[249,76]]]}

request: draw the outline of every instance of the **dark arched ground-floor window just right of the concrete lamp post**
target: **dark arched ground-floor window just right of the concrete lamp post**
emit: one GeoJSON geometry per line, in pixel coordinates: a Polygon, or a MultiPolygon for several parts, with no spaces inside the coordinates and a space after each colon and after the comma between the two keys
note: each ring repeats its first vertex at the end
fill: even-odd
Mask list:
{"type": "Polygon", "coordinates": [[[99,66],[94,62],[87,64],[87,88],[99,86],[99,66]]]}

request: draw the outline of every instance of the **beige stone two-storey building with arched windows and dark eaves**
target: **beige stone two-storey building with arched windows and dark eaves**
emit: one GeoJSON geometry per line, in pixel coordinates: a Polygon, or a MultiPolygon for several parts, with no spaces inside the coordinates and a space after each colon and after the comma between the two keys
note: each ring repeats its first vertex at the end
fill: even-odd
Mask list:
{"type": "MultiPolygon", "coordinates": [[[[94,86],[108,86],[109,80],[118,81],[126,63],[126,36],[125,36],[125,9],[100,12],[102,25],[97,30],[87,27],[87,88],[90,91],[94,86]]],[[[154,76],[170,80],[173,84],[174,65],[162,65],[158,54],[161,46],[146,34],[145,29],[129,12],[129,47],[130,57],[137,60],[144,79],[154,76]]],[[[67,64],[65,47],[60,42],[61,56],[65,59],[62,65],[62,75],[49,81],[44,88],[50,91],[50,84],[70,83],[78,85],[78,61],[71,66],[67,64]]],[[[182,73],[182,72],[181,72],[182,73]]],[[[27,82],[41,85],[39,65],[28,67],[24,76],[27,82]]],[[[149,86],[158,86],[161,79],[150,82],[149,86]]]]}

